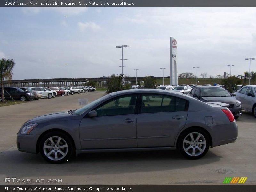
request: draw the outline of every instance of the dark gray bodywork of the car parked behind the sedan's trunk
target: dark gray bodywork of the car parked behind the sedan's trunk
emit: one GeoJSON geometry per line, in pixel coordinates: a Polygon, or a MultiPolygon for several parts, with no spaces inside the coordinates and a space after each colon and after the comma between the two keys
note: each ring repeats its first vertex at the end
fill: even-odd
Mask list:
{"type": "MultiPolygon", "coordinates": [[[[219,87],[219,86],[218,86],[219,87]]],[[[229,104],[229,110],[233,113],[234,116],[241,116],[242,113],[241,113],[241,110],[242,110],[242,107],[241,105],[239,107],[236,107],[236,102],[238,102],[238,100],[236,99],[236,97],[234,96],[230,96],[230,97],[201,97],[201,89],[204,89],[204,88],[216,88],[216,86],[196,86],[196,87],[193,87],[193,89],[199,89],[200,92],[199,92],[199,97],[195,97],[196,99],[198,100],[201,100],[201,101],[204,101],[204,102],[222,102],[222,103],[227,103],[229,104]]],[[[193,90],[192,89],[192,90],[193,90]]],[[[222,87],[220,87],[220,89],[224,89],[222,87]]],[[[191,96],[193,97],[193,91],[191,90],[190,93],[188,93],[188,96],[191,96]]],[[[224,89],[226,90],[226,89],[224,89]]]]}

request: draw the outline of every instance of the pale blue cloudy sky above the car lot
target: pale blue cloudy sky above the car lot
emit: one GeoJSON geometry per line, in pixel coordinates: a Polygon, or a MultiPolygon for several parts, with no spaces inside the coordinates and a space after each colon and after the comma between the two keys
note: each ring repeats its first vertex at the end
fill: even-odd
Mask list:
{"type": "MultiPolygon", "coordinates": [[[[0,8],[0,58],[12,58],[13,79],[170,76],[170,36],[178,73],[232,75],[256,57],[255,8],[0,8]]],[[[251,62],[256,71],[256,60],[251,62]]]]}

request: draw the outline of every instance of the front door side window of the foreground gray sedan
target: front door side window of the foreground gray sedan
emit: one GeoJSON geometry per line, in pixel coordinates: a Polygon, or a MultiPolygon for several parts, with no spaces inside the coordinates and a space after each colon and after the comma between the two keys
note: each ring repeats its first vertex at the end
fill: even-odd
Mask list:
{"type": "Polygon", "coordinates": [[[97,116],[113,116],[134,114],[137,95],[114,98],[95,108],[97,116]]]}

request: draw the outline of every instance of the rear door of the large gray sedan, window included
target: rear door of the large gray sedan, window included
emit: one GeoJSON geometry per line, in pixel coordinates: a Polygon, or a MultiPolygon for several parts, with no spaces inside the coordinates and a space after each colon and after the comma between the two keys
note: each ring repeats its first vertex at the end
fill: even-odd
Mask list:
{"type": "Polygon", "coordinates": [[[140,98],[138,148],[174,146],[178,132],[186,124],[187,101],[161,94],[143,94],[140,98]]]}

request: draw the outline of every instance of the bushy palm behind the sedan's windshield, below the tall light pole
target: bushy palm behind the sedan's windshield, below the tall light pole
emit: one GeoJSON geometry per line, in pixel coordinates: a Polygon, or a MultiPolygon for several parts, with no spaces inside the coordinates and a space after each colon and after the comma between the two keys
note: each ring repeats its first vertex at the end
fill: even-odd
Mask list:
{"type": "Polygon", "coordinates": [[[108,88],[106,93],[112,93],[112,92],[124,90],[125,87],[123,85],[123,79],[124,79],[123,74],[120,74],[120,75],[113,74],[109,76],[107,81],[108,88]]]}

